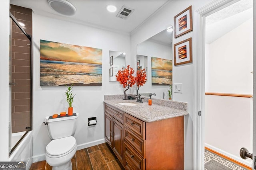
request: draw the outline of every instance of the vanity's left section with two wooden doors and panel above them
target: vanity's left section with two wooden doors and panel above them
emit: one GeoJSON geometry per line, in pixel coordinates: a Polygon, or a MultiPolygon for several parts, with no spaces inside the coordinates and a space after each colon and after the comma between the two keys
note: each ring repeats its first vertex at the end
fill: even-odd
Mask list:
{"type": "Polygon", "coordinates": [[[105,139],[120,162],[123,161],[123,115],[122,111],[105,105],[105,139]]]}

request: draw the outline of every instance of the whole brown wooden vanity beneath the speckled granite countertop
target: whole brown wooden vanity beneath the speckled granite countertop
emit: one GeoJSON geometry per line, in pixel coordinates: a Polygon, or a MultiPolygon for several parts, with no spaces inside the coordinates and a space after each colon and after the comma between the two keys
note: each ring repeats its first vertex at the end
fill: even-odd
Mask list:
{"type": "MultiPolygon", "coordinates": [[[[133,109],[140,107],[122,107],[104,102],[105,139],[124,168],[183,170],[186,114],[147,122],[131,115],[133,109]]],[[[149,107],[148,112],[152,110],[146,104],[143,107],[149,107]]]]}

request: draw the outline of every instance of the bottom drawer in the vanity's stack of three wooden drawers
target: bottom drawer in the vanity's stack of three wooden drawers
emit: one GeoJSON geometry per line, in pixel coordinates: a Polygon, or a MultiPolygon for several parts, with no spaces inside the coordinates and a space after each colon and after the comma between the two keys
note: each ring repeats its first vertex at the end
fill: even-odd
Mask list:
{"type": "Polygon", "coordinates": [[[126,170],[144,170],[145,160],[124,141],[124,168],[126,170]]]}

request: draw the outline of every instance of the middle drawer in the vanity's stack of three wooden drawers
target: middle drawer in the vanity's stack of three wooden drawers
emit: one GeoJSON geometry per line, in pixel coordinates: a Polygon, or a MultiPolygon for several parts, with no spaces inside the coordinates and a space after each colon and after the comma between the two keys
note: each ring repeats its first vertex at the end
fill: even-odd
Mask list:
{"type": "Polygon", "coordinates": [[[127,127],[124,127],[124,140],[126,140],[126,142],[129,143],[131,147],[136,150],[136,152],[138,152],[138,154],[145,158],[144,148],[146,141],[141,139],[141,137],[137,137],[137,135],[132,133],[132,131],[130,131],[130,129],[127,127]]]}

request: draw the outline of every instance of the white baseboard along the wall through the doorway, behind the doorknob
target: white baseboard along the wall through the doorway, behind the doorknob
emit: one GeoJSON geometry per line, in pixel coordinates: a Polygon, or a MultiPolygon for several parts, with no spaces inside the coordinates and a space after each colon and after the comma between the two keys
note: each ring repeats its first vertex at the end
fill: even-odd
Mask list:
{"type": "Polygon", "coordinates": [[[226,151],[224,151],[224,150],[221,150],[221,149],[219,149],[219,148],[217,148],[217,147],[214,147],[214,146],[212,146],[212,145],[209,145],[209,144],[207,144],[207,143],[204,143],[204,146],[205,147],[207,147],[207,148],[209,148],[209,149],[212,149],[212,150],[214,150],[214,151],[216,151],[216,152],[218,152],[218,153],[220,153],[220,154],[223,154],[223,155],[225,155],[225,156],[227,156],[228,158],[232,158],[232,159],[234,159],[234,160],[236,160],[237,162],[240,162],[240,163],[242,163],[242,164],[244,164],[244,165],[247,165],[247,166],[249,166],[249,167],[252,167],[252,160],[251,159],[242,159],[242,158],[240,158],[240,157],[238,157],[238,156],[235,156],[235,155],[233,155],[233,154],[230,154],[230,153],[228,153],[228,152],[226,152],[226,151]]]}

